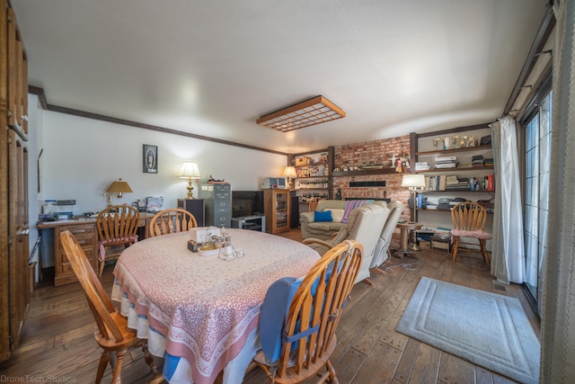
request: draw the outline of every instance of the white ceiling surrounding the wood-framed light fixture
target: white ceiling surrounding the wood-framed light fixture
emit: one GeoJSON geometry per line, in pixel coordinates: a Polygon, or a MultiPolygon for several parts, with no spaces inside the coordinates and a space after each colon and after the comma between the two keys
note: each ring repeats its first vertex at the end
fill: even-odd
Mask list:
{"type": "Polygon", "coordinates": [[[12,0],[48,103],[300,153],[494,121],[544,0],[12,0]],[[322,94],[347,117],[255,123],[322,94]]]}

